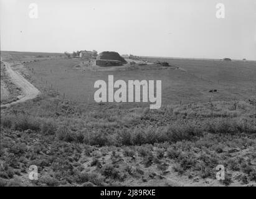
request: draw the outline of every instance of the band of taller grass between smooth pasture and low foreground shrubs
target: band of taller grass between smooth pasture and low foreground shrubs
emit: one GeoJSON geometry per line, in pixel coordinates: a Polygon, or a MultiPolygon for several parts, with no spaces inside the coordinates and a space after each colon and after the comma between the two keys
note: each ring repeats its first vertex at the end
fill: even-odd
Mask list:
{"type": "MultiPolygon", "coordinates": [[[[61,106],[61,108],[55,109],[58,113],[72,109],[73,106],[59,102],[57,105],[55,102],[49,102],[49,104],[56,107],[61,106]]],[[[248,104],[245,105],[248,106],[248,104]]],[[[45,108],[45,106],[41,106],[45,108]]],[[[220,103],[217,104],[216,109],[219,109],[220,106],[222,106],[220,103]]],[[[225,106],[228,107],[228,105],[225,106]]],[[[50,108],[47,109],[50,110],[50,108]]],[[[205,133],[251,134],[256,132],[255,121],[252,117],[244,115],[234,118],[233,114],[229,114],[228,117],[193,119],[179,116],[182,111],[186,110],[188,110],[187,116],[191,115],[189,111],[200,110],[200,113],[207,111],[204,105],[199,104],[181,106],[180,109],[168,106],[153,111],[140,108],[110,109],[94,111],[79,115],[79,117],[74,115],[72,119],[67,116],[47,118],[43,117],[44,114],[39,114],[40,117],[26,114],[1,114],[1,127],[16,131],[30,129],[44,135],[55,135],[61,141],[92,146],[140,146],[163,142],[195,141],[205,133]],[[176,111],[179,112],[178,115],[176,115],[176,111]]],[[[47,112],[47,116],[48,114],[49,112],[47,112]]]]}

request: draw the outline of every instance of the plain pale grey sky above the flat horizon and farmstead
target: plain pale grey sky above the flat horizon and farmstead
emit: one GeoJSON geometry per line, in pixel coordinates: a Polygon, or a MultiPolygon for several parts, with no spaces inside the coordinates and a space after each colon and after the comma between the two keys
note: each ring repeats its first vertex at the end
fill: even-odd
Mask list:
{"type": "Polygon", "coordinates": [[[1,50],[256,60],[255,0],[0,0],[1,50]],[[38,18],[29,17],[29,4],[38,18]],[[216,18],[216,4],[225,18],[216,18]]]}

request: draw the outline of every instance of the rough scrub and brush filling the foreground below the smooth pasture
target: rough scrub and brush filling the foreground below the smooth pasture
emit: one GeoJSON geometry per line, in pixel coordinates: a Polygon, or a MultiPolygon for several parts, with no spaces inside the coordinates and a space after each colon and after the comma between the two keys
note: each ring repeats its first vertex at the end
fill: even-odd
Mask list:
{"type": "Polygon", "coordinates": [[[36,84],[42,96],[1,109],[0,186],[170,185],[181,176],[185,185],[255,184],[255,105],[247,99],[120,108],[36,84]],[[27,178],[30,165],[39,180],[27,178]],[[225,180],[216,180],[217,165],[225,180]]]}

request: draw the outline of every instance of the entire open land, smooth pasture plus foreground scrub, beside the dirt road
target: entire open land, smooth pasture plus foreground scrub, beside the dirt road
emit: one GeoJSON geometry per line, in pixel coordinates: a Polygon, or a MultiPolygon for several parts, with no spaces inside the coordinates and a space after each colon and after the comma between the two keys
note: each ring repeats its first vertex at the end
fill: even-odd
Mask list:
{"type": "Polygon", "coordinates": [[[183,70],[11,58],[41,95],[1,109],[0,186],[255,186],[255,62],[167,61],[183,70]],[[108,75],[162,80],[162,107],[96,104],[93,84],[108,75]],[[29,180],[30,165],[39,180],[29,180]],[[216,180],[217,165],[225,180],[216,180]]]}

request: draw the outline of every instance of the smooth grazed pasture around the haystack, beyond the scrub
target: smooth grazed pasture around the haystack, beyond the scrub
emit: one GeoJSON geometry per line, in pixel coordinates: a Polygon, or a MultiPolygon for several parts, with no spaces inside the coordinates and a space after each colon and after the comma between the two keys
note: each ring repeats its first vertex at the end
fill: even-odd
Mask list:
{"type": "MultiPolygon", "coordinates": [[[[148,58],[149,61],[161,60],[148,58]]],[[[65,98],[83,103],[93,103],[97,80],[161,80],[162,104],[207,102],[212,97],[209,90],[216,89],[213,100],[246,99],[255,96],[256,62],[223,62],[212,60],[162,59],[186,70],[127,70],[90,72],[75,68],[78,59],[59,58],[27,63],[33,69],[32,78],[39,85],[52,85],[65,98]],[[42,81],[41,81],[42,80],[42,81]]],[[[138,104],[136,104],[137,106],[138,104]]],[[[141,106],[142,104],[140,104],[141,106]]],[[[143,104],[146,105],[146,104],[143,104]]],[[[126,103],[125,106],[135,106],[126,103]]]]}

